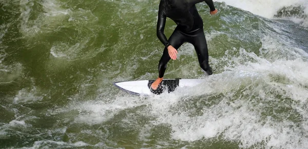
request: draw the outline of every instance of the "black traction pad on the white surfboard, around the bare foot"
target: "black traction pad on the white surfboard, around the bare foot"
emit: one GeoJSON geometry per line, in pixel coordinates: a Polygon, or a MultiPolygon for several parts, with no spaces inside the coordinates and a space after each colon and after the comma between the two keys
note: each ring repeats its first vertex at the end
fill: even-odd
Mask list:
{"type": "Polygon", "coordinates": [[[151,84],[154,82],[155,80],[149,80],[148,82],[148,88],[150,89],[150,91],[153,94],[162,94],[164,92],[164,90],[168,90],[169,92],[175,91],[175,89],[179,86],[179,79],[172,79],[172,80],[163,80],[157,87],[156,90],[153,90],[151,88],[151,84]]]}

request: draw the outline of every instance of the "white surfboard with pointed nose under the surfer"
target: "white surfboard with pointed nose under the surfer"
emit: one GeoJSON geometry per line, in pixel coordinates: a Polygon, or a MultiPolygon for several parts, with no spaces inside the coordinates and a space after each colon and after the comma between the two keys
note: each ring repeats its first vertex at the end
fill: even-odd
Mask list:
{"type": "Polygon", "coordinates": [[[115,82],[118,88],[133,95],[162,94],[164,91],[172,92],[178,87],[191,87],[202,83],[203,79],[164,79],[156,90],[150,88],[155,80],[115,82]]]}

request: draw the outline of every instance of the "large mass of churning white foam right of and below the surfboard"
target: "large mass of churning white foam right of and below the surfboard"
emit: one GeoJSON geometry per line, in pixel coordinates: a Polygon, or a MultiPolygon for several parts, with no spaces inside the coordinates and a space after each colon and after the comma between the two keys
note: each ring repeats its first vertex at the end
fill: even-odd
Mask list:
{"type": "MultiPolygon", "coordinates": [[[[272,56],[275,57],[275,54],[272,56]]],[[[295,57],[298,56],[295,54],[295,57]]],[[[308,85],[308,71],[305,69],[308,67],[308,62],[303,61],[302,56],[294,60],[284,60],[282,57],[278,60],[273,59],[271,62],[244,49],[240,49],[239,55],[232,55],[232,57],[234,58],[227,60],[232,60],[235,65],[226,67],[227,71],[221,74],[205,78],[206,83],[200,85],[202,87],[186,88],[185,91],[176,90],[171,94],[153,96],[148,100],[150,114],[145,115],[157,116],[153,125],[170,124],[174,132],[172,138],[176,140],[196,141],[222,135],[225,140],[240,141],[240,147],[243,148],[252,146],[304,148],[308,139],[304,137],[305,133],[302,134],[301,127],[297,127],[297,124],[286,119],[282,122],[272,116],[264,119],[261,113],[266,111],[267,106],[277,106],[267,105],[278,100],[272,93],[276,92],[283,98],[300,101],[290,106],[296,107],[301,111],[301,116],[307,117],[305,107],[302,105],[308,100],[308,90],[304,87],[308,85]],[[252,61],[245,59],[252,59],[252,61]],[[285,79],[277,82],[273,80],[273,76],[281,76],[285,79]],[[241,86],[244,88],[241,89],[241,86]],[[241,96],[235,97],[234,92],[238,91],[242,92],[241,96]],[[199,98],[199,96],[219,94],[225,96],[222,99],[216,99],[217,104],[199,107],[202,108],[201,116],[190,115],[196,110],[193,106],[188,109],[181,106],[183,101],[191,100],[193,98],[191,96],[199,98]],[[255,98],[249,98],[252,95],[255,98]]],[[[207,99],[200,99],[198,102],[203,100],[207,99]]],[[[192,103],[187,102],[187,104],[192,103]]],[[[283,106],[283,104],[277,104],[283,106]]],[[[287,115],[288,113],[285,112],[279,117],[283,119],[287,115]]],[[[308,128],[306,119],[302,119],[299,123],[308,128]]],[[[149,136],[146,131],[148,126],[142,130],[140,138],[144,139],[149,136]]]]}

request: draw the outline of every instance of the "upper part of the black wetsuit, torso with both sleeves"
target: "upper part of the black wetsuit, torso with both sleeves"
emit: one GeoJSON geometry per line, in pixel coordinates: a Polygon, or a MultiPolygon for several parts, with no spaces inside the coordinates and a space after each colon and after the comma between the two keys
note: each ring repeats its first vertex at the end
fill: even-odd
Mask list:
{"type": "Polygon", "coordinates": [[[171,18],[182,32],[193,32],[203,27],[203,21],[196,8],[197,3],[205,2],[211,11],[215,10],[213,0],[161,0],[159,4],[157,36],[169,46],[164,34],[166,17],[171,18]]]}

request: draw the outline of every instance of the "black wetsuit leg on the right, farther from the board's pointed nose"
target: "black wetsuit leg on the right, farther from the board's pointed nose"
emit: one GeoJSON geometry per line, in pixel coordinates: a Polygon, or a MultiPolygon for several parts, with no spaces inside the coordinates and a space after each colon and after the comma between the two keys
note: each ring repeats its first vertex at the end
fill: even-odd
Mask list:
{"type": "Polygon", "coordinates": [[[194,45],[200,67],[209,75],[213,74],[208,64],[208,49],[203,28],[197,30],[194,35],[191,35],[189,42],[194,45]]]}

